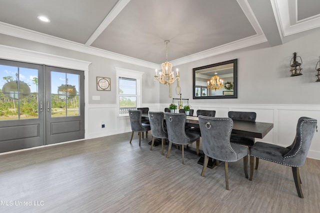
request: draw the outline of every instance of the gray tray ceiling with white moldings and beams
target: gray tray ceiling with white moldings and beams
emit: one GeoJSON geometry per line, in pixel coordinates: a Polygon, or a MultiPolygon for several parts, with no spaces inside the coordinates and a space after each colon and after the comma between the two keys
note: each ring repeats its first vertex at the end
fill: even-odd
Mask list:
{"type": "Polygon", "coordinates": [[[319,0],[0,0],[0,33],[23,37],[12,27],[35,31],[160,64],[164,40],[170,40],[169,61],[266,41],[274,46],[283,36],[320,26],[319,13],[319,0]],[[40,22],[38,15],[50,22],[40,22]]]}

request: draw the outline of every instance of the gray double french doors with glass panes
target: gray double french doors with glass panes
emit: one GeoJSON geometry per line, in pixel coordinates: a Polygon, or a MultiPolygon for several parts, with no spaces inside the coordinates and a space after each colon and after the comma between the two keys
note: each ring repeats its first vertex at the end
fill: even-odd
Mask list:
{"type": "Polygon", "coordinates": [[[83,71],[0,59],[0,152],[84,138],[83,71]]]}

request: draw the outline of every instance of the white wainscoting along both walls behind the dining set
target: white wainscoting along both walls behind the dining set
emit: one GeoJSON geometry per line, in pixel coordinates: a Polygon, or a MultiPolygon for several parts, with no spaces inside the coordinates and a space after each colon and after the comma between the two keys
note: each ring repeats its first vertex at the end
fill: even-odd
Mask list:
{"type": "MultiPolygon", "coordinates": [[[[292,143],[296,123],[299,117],[307,116],[320,122],[320,105],[232,105],[232,104],[190,104],[196,116],[197,109],[215,110],[215,117],[227,117],[228,111],[256,112],[256,121],[273,123],[273,129],[263,138],[256,139],[266,143],[288,146],[292,143]]],[[[150,111],[163,111],[169,103],[143,104],[150,111]]],[[[130,132],[128,116],[119,117],[116,113],[116,104],[89,105],[89,131],[87,139],[130,132]],[[101,128],[101,124],[105,128],[101,128]]],[[[318,124],[320,126],[320,123],[318,124]]],[[[320,131],[316,132],[311,143],[308,157],[320,160],[320,131]]],[[[191,147],[195,148],[195,145],[191,147]]],[[[200,146],[201,147],[201,146],[200,146]]]]}

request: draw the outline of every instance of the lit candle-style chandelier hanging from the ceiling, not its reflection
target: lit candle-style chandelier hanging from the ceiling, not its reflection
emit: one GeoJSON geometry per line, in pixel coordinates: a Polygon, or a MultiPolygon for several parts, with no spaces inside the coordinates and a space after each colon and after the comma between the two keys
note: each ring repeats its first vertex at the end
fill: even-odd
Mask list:
{"type": "Polygon", "coordinates": [[[179,86],[179,72],[178,69],[176,69],[176,77],[174,77],[174,71],[172,72],[172,63],[168,62],[168,43],[169,40],[165,40],[164,43],[166,45],[166,58],[165,62],[161,64],[161,69],[162,72],[159,72],[159,76],[157,76],[157,70],[155,70],[155,75],[154,75],[154,81],[158,80],[159,83],[164,84],[164,85],[169,85],[169,98],[172,97],[172,92],[171,92],[171,84],[174,83],[176,80],[176,94],[180,94],[180,86],[179,86]]]}

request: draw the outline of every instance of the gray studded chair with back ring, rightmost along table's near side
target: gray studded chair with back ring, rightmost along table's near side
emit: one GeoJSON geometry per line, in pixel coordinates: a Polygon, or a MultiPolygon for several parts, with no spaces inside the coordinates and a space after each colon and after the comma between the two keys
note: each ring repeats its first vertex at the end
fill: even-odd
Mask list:
{"type": "Polygon", "coordinates": [[[209,157],[224,162],[225,189],[229,190],[228,162],[243,158],[244,176],[248,178],[248,148],[230,143],[233,121],[230,118],[213,118],[199,115],[204,162],[201,176],[204,176],[209,157]]]}

